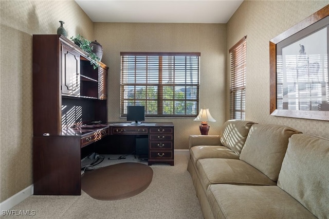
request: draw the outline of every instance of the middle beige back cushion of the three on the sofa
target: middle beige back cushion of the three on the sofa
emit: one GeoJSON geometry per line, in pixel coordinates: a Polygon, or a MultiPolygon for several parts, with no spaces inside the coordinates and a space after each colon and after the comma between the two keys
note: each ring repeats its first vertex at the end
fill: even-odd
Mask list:
{"type": "Polygon", "coordinates": [[[288,139],[299,131],[283,125],[254,124],[251,126],[240,159],[277,181],[288,139]]]}

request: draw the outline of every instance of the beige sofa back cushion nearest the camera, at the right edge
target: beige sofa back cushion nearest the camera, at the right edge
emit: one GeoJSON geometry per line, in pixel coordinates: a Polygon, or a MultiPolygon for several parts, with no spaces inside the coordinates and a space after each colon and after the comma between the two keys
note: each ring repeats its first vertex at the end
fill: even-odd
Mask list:
{"type": "Polygon", "coordinates": [[[318,218],[329,216],[329,139],[291,136],[278,186],[318,218]]]}

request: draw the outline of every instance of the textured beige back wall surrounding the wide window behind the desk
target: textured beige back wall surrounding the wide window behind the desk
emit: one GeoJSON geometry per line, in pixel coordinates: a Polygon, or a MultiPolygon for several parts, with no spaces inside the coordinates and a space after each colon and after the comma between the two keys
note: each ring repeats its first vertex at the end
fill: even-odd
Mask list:
{"type": "MultiPolygon", "coordinates": [[[[108,120],[120,118],[120,52],[201,52],[200,107],[206,106],[217,122],[209,134],[218,134],[225,121],[225,24],[95,23],[96,40],[103,46],[102,62],[108,65],[108,120]]],[[[199,134],[192,118],[146,118],[175,125],[175,149],[188,149],[188,136],[199,134]]]]}

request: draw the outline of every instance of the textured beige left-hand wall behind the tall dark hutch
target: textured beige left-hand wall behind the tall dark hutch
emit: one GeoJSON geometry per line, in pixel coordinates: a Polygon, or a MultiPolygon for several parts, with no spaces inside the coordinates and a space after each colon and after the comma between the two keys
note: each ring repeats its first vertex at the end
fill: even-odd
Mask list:
{"type": "Polygon", "coordinates": [[[74,1],[0,1],[0,202],[32,184],[32,35],[94,38],[94,24],[74,1]]]}

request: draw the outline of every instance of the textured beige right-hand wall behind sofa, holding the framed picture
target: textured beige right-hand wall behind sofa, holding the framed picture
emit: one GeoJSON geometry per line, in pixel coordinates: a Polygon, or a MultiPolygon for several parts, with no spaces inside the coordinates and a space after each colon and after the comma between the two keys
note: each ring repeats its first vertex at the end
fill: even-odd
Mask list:
{"type": "MultiPolygon", "coordinates": [[[[227,23],[227,48],[247,35],[247,120],[289,125],[329,138],[328,121],[269,115],[269,41],[327,4],[329,1],[244,1],[231,17],[227,23]]],[[[229,66],[229,59],[226,65],[229,66]]],[[[227,89],[228,85],[227,79],[227,89]]],[[[228,100],[227,94],[227,105],[228,100]]],[[[229,115],[228,107],[226,112],[229,115]]]]}

